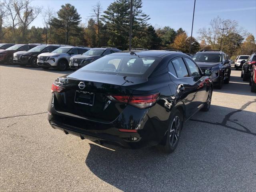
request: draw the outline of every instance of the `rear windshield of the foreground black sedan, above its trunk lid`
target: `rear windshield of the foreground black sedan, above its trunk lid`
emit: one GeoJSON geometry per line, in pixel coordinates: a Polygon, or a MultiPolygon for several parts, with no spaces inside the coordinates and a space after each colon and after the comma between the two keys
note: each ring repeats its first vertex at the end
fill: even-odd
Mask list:
{"type": "Polygon", "coordinates": [[[148,77],[159,58],[135,55],[106,55],[80,70],[93,73],[148,77]]]}

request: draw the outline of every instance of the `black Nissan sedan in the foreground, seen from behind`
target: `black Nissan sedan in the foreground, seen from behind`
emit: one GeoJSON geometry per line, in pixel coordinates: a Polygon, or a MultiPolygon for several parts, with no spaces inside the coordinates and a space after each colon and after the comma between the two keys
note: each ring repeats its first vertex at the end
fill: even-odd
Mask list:
{"type": "Polygon", "coordinates": [[[110,54],[55,80],[48,120],[81,139],[170,153],[184,122],[209,110],[210,75],[181,52],[110,54]]]}

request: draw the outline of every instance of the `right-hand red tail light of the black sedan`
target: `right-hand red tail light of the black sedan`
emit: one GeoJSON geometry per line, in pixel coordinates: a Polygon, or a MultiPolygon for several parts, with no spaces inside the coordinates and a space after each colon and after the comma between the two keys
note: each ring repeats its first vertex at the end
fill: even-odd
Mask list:
{"type": "Polygon", "coordinates": [[[154,105],[158,96],[159,93],[132,96],[108,95],[107,98],[115,102],[126,103],[144,109],[154,105]]]}

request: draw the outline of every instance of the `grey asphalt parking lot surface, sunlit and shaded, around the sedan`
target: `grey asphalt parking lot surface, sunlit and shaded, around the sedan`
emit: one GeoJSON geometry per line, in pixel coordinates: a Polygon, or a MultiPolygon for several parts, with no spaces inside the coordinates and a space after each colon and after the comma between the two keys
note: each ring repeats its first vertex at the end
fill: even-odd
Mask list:
{"type": "Polygon", "coordinates": [[[0,66],[0,191],[256,191],[256,94],[241,71],[186,122],[170,155],[52,129],[51,85],[69,72],[0,66]]]}

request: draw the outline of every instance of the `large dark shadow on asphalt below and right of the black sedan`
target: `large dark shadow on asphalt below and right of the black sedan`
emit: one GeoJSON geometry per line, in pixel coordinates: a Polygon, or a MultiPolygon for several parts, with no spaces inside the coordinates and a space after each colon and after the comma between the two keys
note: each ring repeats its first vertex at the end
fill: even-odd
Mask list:
{"type": "Polygon", "coordinates": [[[248,177],[254,176],[254,162],[246,165],[243,162],[244,158],[255,156],[252,140],[256,130],[246,124],[254,118],[251,123],[255,125],[255,113],[211,106],[209,112],[200,112],[193,118],[184,124],[173,154],[163,154],[155,147],[129,150],[104,144],[113,151],[90,144],[85,164],[100,179],[122,191],[244,191],[250,188],[248,177]],[[241,176],[245,172],[246,176],[241,176]]]}

